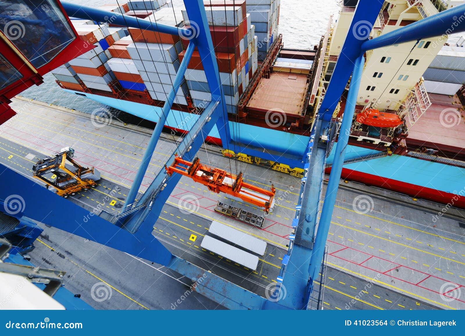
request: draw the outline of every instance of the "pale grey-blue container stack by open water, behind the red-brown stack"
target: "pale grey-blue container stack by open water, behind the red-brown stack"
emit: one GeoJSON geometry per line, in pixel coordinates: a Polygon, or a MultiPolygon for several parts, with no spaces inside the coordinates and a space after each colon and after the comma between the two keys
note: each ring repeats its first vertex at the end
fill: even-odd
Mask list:
{"type": "Polygon", "coordinates": [[[258,37],[258,58],[263,61],[278,34],[280,0],[246,0],[246,3],[258,37]]]}

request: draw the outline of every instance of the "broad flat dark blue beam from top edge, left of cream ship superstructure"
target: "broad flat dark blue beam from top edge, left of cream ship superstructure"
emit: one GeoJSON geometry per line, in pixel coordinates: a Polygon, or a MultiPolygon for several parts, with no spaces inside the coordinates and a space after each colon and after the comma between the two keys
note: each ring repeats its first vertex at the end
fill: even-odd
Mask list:
{"type": "Polygon", "coordinates": [[[384,0],[359,0],[325,97],[319,108],[322,119],[331,120],[332,113],[336,109],[352,73],[355,59],[360,56],[361,46],[370,36],[370,31],[383,3],[384,0]]]}

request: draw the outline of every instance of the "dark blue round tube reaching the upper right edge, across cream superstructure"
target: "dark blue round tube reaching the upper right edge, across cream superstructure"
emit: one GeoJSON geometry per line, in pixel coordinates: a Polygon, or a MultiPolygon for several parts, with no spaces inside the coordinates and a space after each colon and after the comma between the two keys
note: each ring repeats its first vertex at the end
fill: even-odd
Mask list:
{"type": "Polygon", "coordinates": [[[361,46],[362,52],[393,44],[427,39],[441,34],[449,35],[463,32],[465,31],[464,13],[465,4],[452,7],[372,40],[367,40],[361,46]]]}

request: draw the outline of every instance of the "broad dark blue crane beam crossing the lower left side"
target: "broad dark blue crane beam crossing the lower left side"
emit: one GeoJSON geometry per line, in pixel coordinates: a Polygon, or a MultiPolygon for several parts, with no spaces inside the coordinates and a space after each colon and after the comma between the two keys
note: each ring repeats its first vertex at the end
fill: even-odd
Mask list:
{"type": "Polygon", "coordinates": [[[19,200],[17,217],[31,218],[154,263],[168,265],[174,258],[152,235],[135,237],[1,164],[0,178],[0,206],[3,209],[2,203],[6,199],[10,202],[13,198],[19,200]]]}

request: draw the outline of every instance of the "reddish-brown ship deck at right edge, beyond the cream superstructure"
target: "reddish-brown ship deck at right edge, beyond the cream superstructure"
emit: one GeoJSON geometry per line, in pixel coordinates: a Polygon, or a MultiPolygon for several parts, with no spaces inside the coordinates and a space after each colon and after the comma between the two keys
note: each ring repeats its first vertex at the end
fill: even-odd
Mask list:
{"type": "Polygon", "coordinates": [[[409,128],[409,149],[432,148],[447,158],[465,160],[464,108],[457,95],[429,94],[432,105],[409,128]]]}

